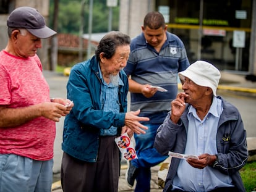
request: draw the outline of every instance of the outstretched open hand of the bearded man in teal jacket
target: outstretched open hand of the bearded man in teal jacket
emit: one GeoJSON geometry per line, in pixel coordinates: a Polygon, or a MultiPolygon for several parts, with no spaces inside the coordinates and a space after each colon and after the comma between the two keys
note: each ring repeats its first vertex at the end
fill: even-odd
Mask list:
{"type": "Polygon", "coordinates": [[[142,125],[140,121],[148,121],[148,117],[139,117],[140,110],[138,111],[130,111],[126,113],[126,118],[124,119],[124,124],[129,127],[134,133],[146,133],[144,130],[147,130],[148,127],[142,125]]]}

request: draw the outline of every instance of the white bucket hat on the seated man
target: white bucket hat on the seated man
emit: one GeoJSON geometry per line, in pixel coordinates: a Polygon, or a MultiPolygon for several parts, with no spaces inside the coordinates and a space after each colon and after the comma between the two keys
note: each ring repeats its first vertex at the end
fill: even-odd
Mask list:
{"type": "Polygon", "coordinates": [[[189,78],[197,85],[210,87],[213,90],[213,95],[216,96],[221,74],[212,64],[206,61],[196,61],[183,72],[179,72],[179,78],[182,83],[184,82],[184,77],[189,78]]]}

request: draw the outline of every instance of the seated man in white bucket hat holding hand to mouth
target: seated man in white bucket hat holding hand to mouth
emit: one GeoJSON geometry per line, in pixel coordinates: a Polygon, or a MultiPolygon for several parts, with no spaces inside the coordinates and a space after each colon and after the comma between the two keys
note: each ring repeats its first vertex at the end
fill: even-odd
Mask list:
{"type": "Polygon", "coordinates": [[[172,158],[163,191],[245,191],[246,132],[236,107],[216,96],[220,71],[197,61],[179,77],[184,92],[171,102],[154,147],[192,156],[172,158]]]}

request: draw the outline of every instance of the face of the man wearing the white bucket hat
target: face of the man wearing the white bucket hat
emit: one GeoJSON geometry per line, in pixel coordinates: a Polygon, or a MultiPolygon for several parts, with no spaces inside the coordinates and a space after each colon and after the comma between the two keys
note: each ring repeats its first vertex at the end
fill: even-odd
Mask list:
{"type": "Polygon", "coordinates": [[[200,86],[195,84],[192,80],[185,77],[184,83],[182,85],[182,90],[187,94],[185,98],[185,102],[196,105],[200,100],[205,96],[205,92],[207,91],[206,86],[200,86]]]}

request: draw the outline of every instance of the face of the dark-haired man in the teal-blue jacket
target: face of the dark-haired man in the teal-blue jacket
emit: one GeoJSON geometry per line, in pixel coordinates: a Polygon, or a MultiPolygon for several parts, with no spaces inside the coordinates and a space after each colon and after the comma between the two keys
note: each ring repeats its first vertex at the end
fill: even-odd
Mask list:
{"type": "Polygon", "coordinates": [[[118,46],[113,57],[110,59],[104,59],[104,68],[110,75],[117,75],[124,67],[126,67],[127,61],[130,55],[130,46],[118,46]]]}

